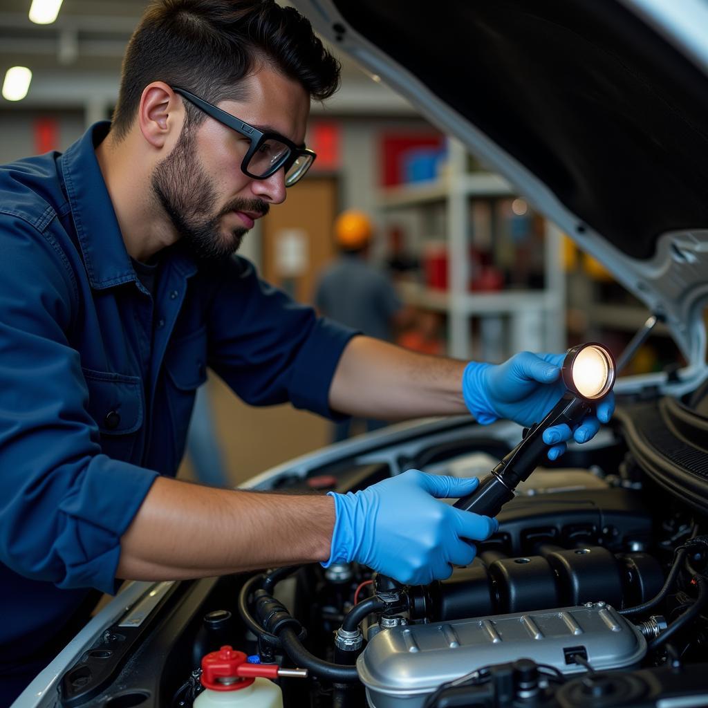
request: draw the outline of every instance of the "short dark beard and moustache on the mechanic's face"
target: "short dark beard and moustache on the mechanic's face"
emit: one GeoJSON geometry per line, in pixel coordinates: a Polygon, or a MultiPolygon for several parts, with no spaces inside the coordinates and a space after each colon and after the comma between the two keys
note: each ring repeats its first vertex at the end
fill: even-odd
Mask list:
{"type": "Polygon", "coordinates": [[[215,211],[217,190],[196,159],[193,131],[185,125],[172,150],[156,164],[151,185],[181,241],[198,261],[214,261],[239,250],[246,227],[224,229],[221,219],[229,212],[268,213],[261,199],[233,199],[215,211]]]}

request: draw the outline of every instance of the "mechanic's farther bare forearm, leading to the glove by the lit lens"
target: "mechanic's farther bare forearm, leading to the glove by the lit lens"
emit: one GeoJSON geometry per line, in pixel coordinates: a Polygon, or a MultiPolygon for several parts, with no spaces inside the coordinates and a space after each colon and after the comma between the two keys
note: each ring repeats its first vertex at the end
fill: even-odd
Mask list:
{"type": "Polygon", "coordinates": [[[462,398],[466,364],[355,337],[339,360],[329,404],[342,413],[388,420],[467,413],[462,398]]]}

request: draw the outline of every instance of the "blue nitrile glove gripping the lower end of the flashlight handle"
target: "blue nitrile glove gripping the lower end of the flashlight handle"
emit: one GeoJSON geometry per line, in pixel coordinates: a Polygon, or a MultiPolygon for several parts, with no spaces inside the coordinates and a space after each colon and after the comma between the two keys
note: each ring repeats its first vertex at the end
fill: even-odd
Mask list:
{"type": "Polygon", "coordinates": [[[409,469],[358,492],[329,492],[336,520],[324,567],[356,561],[407,585],[449,578],[450,564],[472,563],[471,542],[489,537],[498,523],[438,499],[465,496],[478,484],[409,469]]]}

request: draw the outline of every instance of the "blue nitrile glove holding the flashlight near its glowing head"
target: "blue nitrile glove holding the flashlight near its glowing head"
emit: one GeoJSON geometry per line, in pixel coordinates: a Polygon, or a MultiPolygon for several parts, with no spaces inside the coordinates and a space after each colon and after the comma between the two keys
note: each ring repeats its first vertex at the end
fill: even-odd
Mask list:
{"type": "MultiPolygon", "coordinates": [[[[540,423],[566,390],[560,369],[564,358],[565,354],[522,352],[499,365],[469,362],[462,375],[464,402],[484,425],[497,418],[509,418],[521,426],[540,423]]],[[[576,442],[593,438],[600,422],[610,421],[614,411],[615,396],[610,392],[596,406],[597,415],[586,416],[575,430],[566,425],[544,430],[544,442],[553,445],[548,457],[562,455],[571,435],[576,442]]]]}

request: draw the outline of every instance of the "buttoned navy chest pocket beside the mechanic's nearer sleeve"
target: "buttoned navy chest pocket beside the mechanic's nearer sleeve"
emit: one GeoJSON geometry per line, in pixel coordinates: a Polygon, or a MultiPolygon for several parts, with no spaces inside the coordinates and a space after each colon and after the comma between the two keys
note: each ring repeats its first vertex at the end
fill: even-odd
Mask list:
{"type": "Polygon", "coordinates": [[[144,420],[142,379],[83,369],[89,389],[89,413],[101,433],[101,450],[132,462],[137,430],[144,420]]]}

